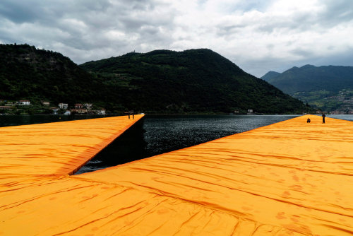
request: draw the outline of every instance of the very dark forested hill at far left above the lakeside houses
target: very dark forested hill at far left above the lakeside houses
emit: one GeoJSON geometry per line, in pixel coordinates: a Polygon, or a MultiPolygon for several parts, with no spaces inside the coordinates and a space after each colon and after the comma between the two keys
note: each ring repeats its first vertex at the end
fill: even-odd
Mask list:
{"type": "Polygon", "coordinates": [[[29,45],[0,45],[0,99],[92,102],[100,83],[57,52],[29,45]]]}

